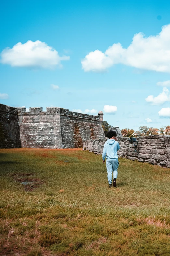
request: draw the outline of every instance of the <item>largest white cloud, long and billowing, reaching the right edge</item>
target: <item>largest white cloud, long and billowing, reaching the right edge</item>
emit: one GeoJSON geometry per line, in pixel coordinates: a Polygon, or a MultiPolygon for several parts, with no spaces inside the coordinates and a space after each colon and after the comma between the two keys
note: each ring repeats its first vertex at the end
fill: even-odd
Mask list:
{"type": "Polygon", "coordinates": [[[123,48],[113,44],[104,53],[90,52],[81,61],[85,72],[102,72],[114,64],[124,64],[135,68],[170,73],[170,24],[163,26],[156,36],[144,37],[135,34],[132,43],[123,48]]]}

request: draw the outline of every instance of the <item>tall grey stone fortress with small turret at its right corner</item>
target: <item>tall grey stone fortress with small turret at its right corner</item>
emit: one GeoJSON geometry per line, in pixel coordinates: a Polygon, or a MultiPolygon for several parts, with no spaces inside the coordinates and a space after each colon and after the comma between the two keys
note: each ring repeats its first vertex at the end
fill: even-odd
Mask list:
{"type": "Polygon", "coordinates": [[[89,139],[104,139],[97,116],[59,107],[13,108],[0,104],[0,148],[74,148],[89,139]]]}

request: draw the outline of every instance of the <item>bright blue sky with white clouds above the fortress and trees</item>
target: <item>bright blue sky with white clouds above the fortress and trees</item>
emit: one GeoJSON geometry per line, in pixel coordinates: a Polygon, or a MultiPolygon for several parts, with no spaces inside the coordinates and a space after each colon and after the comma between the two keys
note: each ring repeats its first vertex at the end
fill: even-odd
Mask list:
{"type": "Polygon", "coordinates": [[[3,1],[0,103],[169,125],[169,13],[169,1],[3,1]]]}

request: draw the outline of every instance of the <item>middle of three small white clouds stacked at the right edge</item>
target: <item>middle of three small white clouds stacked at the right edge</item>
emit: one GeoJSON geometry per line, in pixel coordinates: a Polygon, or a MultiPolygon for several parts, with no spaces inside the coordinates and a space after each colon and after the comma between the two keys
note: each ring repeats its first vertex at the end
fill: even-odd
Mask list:
{"type": "Polygon", "coordinates": [[[153,95],[149,95],[145,100],[152,105],[162,105],[166,101],[170,101],[169,90],[164,87],[163,91],[158,96],[154,97],[153,95]]]}

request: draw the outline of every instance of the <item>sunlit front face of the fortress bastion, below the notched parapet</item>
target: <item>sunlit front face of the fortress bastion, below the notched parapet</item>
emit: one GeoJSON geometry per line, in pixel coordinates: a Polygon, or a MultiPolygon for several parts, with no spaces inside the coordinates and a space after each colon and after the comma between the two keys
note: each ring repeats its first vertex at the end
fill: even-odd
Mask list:
{"type": "Polygon", "coordinates": [[[59,108],[17,108],[21,147],[62,148],[59,108]]]}

